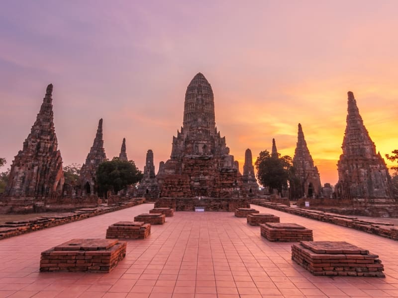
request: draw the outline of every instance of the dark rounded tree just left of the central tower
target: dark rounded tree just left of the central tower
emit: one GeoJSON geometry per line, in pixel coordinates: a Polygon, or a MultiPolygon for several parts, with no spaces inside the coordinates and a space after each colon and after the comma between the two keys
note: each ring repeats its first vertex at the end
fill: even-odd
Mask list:
{"type": "Polygon", "coordinates": [[[143,178],[134,161],[122,161],[118,157],[100,163],[97,169],[97,186],[99,193],[108,191],[117,193],[127,185],[135,184],[143,178]]]}

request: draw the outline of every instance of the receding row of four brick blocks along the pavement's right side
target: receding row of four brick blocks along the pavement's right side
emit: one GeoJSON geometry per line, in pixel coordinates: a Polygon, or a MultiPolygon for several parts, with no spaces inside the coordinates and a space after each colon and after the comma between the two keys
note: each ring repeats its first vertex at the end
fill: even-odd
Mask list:
{"type": "Polygon", "coordinates": [[[279,217],[260,214],[255,209],[236,210],[235,216],[260,225],[261,235],[269,241],[300,242],[292,245],[292,260],[311,272],[324,276],[385,277],[377,255],[347,242],[312,241],[312,230],[299,224],[279,223],[279,217]]]}

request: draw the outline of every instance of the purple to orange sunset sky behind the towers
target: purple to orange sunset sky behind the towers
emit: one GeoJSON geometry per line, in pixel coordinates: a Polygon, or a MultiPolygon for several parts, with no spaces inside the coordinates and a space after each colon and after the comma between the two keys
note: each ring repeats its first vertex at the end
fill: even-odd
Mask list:
{"type": "Polygon", "coordinates": [[[301,123],[335,184],[347,91],[376,149],[398,149],[397,15],[396,0],[5,1],[0,157],[11,165],[53,83],[64,165],[85,161],[103,118],[107,157],[125,137],[128,158],[142,170],[152,149],[157,172],[201,72],[241,172],[245,150],[255,160],[272,138],[293,157],[301,123]]]}

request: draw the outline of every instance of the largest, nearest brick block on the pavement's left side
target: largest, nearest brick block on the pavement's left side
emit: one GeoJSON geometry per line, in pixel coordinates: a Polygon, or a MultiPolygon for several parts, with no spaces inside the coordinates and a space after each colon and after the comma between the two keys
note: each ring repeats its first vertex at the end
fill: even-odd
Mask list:
{"type": "Polygon", "coordinates": [[[72,239],[41,253],[40,271],[110,272],[126,255],[117,239],[72,239]]]}

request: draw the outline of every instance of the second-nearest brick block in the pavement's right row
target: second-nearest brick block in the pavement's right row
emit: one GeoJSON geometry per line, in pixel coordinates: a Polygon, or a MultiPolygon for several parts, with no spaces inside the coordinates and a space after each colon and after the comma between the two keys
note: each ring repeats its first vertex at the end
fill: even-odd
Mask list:
{"type": "Polygon", "coordinates": [[[312,241],[312,230],[299,224],[265,223],[260,224],[261,235],[269,241],[312,241]]]}

